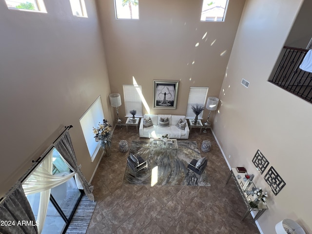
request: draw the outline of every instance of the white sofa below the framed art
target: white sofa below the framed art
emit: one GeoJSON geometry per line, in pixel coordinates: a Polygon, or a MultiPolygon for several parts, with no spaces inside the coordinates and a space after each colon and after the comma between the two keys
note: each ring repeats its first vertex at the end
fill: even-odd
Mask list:
{"type": "Polygon", "coordinates": [[[140,128],[139,128],[139,136],[140,137],[148,137],[148,138],[160,138],[162,134],[168,134],[171,139],[188,139],[190,135],[190,128],[185,119],[185,116],[176,116],[176,115],[152,115],[145,114],[144,118],[141,119],[140,128]],[[144,127],[144,118],[147,119],[151,117],[153,126],[144,127]],[[158,126],[159,118],[169,119],[169,127],[160,127],[158,126]],[[186,121],[185,130],[181,130],[176,127],[179,119],[182,121],[186,121]]]}

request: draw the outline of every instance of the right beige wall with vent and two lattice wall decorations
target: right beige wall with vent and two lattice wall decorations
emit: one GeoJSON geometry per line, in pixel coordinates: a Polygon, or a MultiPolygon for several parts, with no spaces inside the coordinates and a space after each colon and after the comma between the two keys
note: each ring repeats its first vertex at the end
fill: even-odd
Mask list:
{"type": "MultiPolygon", "coordinates": [[[[245,166],[255,175],[255,184],[269,192],[269,210],[258,219],[265,234],[275,233],[275,224],[284,218],[312,232],[307,202],[312,193],[311,103],[267,81],[302,2],[246,1],[214,121],[214,133],[230,165],[245,166]],[[242,78],[250,81],[248,89],[240,84],[242,78]],[[257,149],[270,162],[263,175],[252,163],[257,149]],[[264,181],[271,166],[286,182],[276,196],[264,181]]],[[[309,28],[310,22],[301,26],[309,28]]]]}

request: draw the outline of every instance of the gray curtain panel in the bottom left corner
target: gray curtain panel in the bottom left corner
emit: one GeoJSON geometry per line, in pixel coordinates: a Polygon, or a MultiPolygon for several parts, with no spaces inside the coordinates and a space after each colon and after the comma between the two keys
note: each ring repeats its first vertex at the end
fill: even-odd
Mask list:
{"type": "Polygon", "coordinates": [[[38,234],[36,219],[21,183],[0,204],[0,234],[38,234]]]}

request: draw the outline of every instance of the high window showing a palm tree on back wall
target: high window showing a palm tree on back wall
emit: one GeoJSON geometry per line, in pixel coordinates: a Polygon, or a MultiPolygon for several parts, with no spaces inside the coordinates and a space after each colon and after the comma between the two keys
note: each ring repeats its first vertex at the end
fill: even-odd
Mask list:
{"type": "Polygon", "coordinates": [[[115,0],[116,19],[138,19],[138,0],[115,0]]]}

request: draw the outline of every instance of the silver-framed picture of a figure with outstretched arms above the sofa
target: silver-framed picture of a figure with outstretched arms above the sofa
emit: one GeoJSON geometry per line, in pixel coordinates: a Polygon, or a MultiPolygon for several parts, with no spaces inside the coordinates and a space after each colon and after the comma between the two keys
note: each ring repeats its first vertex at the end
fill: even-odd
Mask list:
{"type": "Polygon", "coordinates": [[[154,80],[154,109],[176,109],[179,82],[180,81],[154,80]]]}

